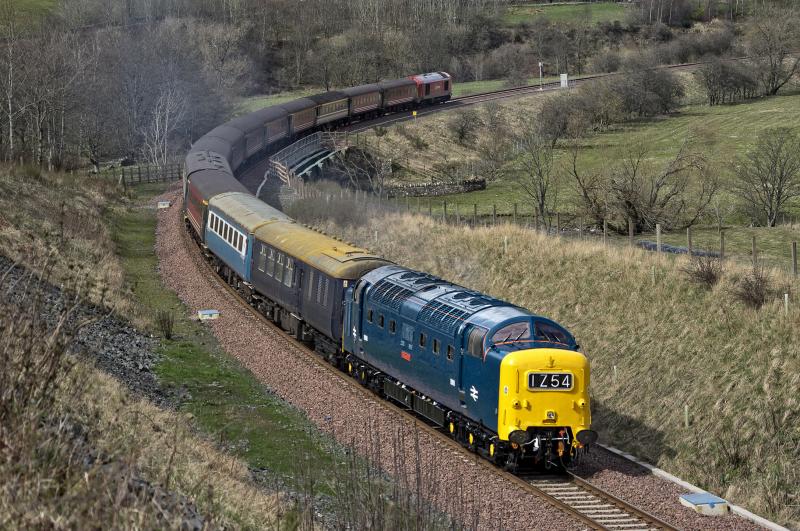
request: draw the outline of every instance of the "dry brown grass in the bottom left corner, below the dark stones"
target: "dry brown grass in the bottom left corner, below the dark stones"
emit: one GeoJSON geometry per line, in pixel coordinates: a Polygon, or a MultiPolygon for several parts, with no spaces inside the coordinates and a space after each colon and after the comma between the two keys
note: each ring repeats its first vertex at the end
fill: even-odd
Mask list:
{"type": "Polygon", "coordinates": [[[39,279],[2,273],[0,527],[162,529],[197,517],[205,528],[276,527],[290,506],[242,462],[68,354],[77,295],[45,322],[39,279]]]}

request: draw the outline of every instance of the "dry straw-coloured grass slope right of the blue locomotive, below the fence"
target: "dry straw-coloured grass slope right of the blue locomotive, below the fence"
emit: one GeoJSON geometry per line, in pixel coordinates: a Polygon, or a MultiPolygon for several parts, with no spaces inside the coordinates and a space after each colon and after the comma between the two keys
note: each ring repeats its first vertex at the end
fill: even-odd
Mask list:
{"type": "Polygon", "coordinates": [[[800,524],[800,303],[793,295],[787,316],[780,299],[787,287],[796,293],[796,280],[773,275],[775,292],[753,310],[732,294],[747,273],[732,264],[708,291],[682,272],[684,258],[511,226],[468,229],[403,215],[324,228],[568,326],[591,360],[603,442],[800,524]]]}

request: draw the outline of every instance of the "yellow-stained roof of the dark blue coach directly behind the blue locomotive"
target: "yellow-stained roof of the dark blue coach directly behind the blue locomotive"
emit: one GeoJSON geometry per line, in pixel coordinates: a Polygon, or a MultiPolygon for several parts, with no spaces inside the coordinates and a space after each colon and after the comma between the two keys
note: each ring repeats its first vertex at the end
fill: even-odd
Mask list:
{"type": "Polygon", "coordinates": [[[256,230],[256,238],[325,273],[345,280],[390,262],[365,249],[335,240],[297,223],[272,223],[256,230]]]}

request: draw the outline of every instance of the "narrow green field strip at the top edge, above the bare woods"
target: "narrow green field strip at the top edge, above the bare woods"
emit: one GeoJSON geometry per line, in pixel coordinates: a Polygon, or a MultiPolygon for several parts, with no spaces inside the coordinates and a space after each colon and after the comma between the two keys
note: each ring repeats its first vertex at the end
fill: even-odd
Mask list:
{"type": "Polygon", "coordinates": [[[555,4],[555,5],[512,5],[506,9],[503,20],[507,24],[530,23],[537,18],[546,18],[556,23],[624,22],[627,18],[628,6],[616,2],[597,2],[592,4],[555,4]]]}

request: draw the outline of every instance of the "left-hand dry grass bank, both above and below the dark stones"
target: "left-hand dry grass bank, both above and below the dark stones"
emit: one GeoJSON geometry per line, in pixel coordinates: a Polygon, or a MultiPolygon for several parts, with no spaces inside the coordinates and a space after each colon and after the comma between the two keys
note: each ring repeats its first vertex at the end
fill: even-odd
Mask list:
{"type": "MultiPolygon", "coordinates": [[[[135,294],[125,288],[104,221],[112,208],[135,211],[119,193],[99,179],[0,168],[3,254],[133,315],[135,294]]],[[[291,508],[257,488],[244,461],[198,437],[195,420],[158,409],[91,362],[66,356],[60,335],[31,334],[39,330],[28,328],[37,326],[36,308],[28,315],[2,305],[10,387],[0,393],[0,527],[180,526],[174,501],[129,490],[140,480],[196,504],[212,525],[270,527],[291,508]]]]}

